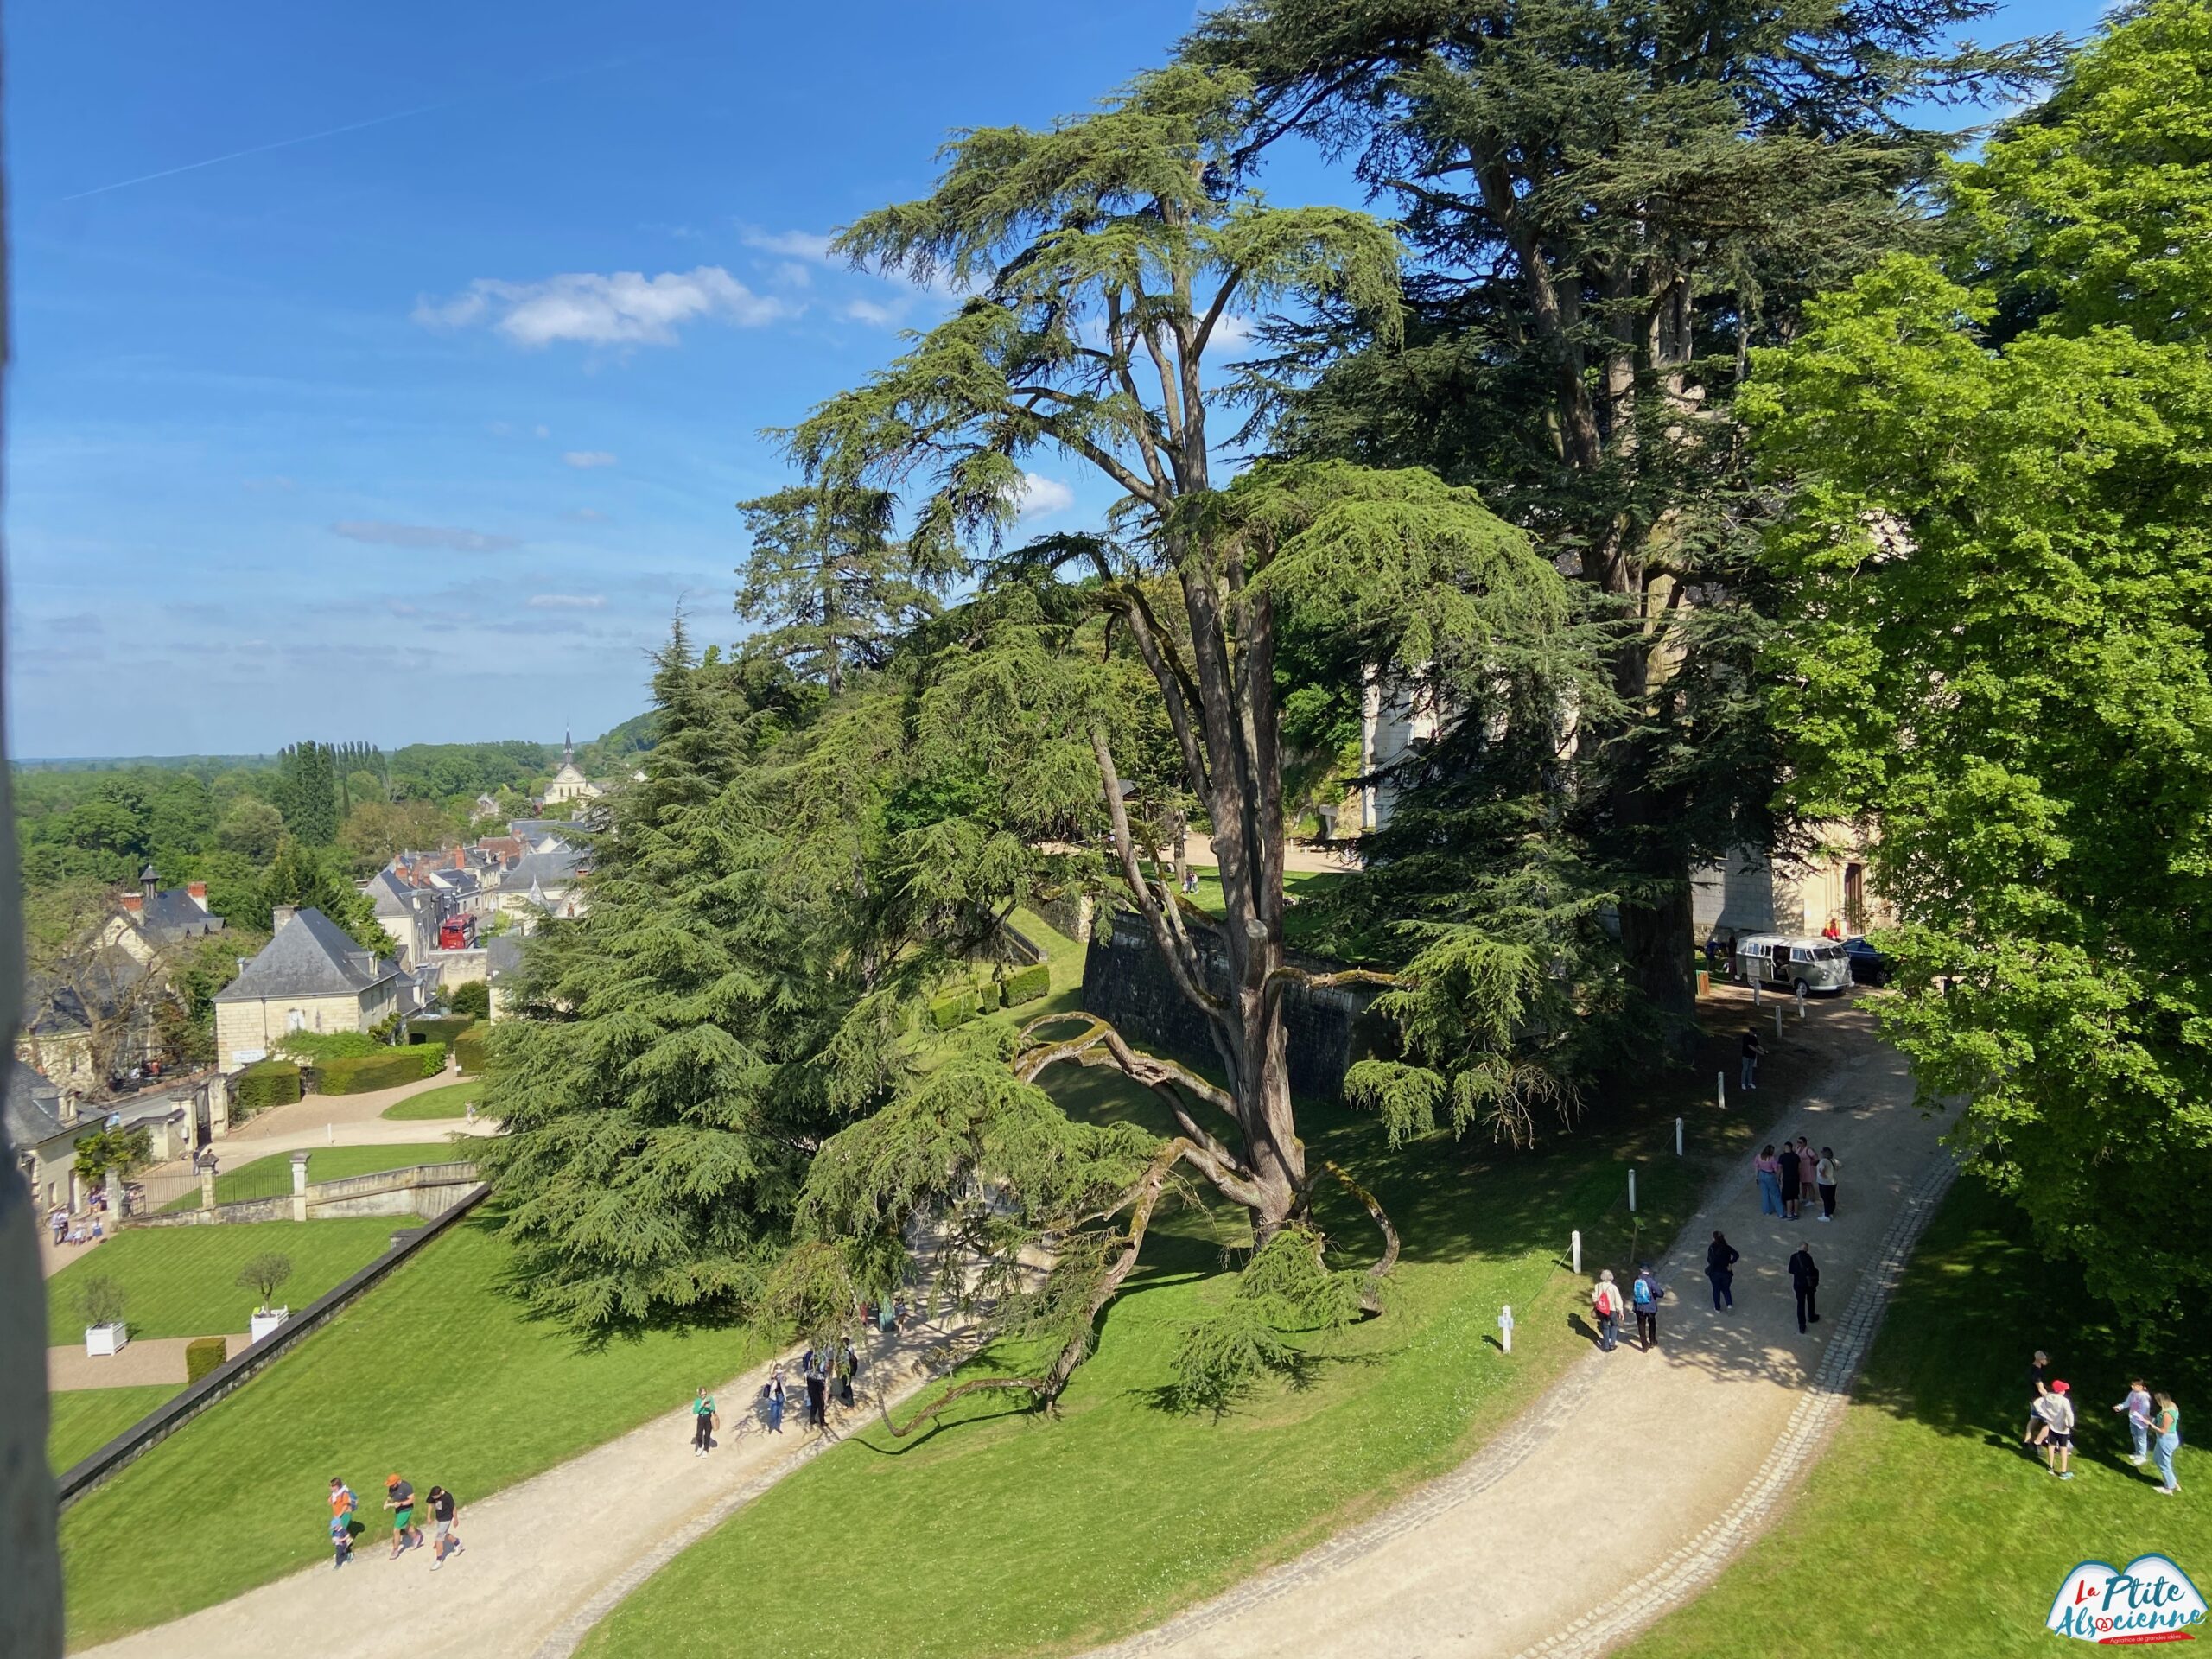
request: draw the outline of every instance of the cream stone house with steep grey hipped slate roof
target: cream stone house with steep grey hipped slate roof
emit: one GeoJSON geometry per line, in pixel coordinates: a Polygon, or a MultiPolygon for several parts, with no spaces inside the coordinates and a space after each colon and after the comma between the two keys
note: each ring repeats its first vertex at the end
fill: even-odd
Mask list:
{"type": "Polygon", "coordinates": [[[398,960],[356,945],[319,909],[276,907],[276,933],[215,993],[223,1071],[265,1060],[292,1031],[369,1031],[414,1002],[398,960]]]}

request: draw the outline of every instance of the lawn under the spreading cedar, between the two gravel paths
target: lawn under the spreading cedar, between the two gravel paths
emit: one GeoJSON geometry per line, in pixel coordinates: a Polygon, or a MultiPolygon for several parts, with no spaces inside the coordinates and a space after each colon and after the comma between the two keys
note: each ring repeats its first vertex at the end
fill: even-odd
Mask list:
{"type": "MultiPolygon", "coordinates": [[[[1073,1110],[1159,1128],[1117,1077],[1051,1082],[1073,1110]]],[[[801,1652],[830,1606],[845,1659],[1064,1652],[1283,1559],[1453,1467],[1584,1352],[1582,1290],[1557,1261],[1566,1230],[1582,1228],[1590,1272],[1628,1265],[1628,1157],[1641,1225],[1674,1230],[1708,1175],[1672,1157],[1683,1108],[1655,1099],[1617,1133],[1493,1159],[1451,1144],[1391,1155],[1371,1124],[1307,1104],[1316,1159],[1374,1181],[1407,1239],[1391,1314],[1318,1340],[1307,1387],[1267,1389],[1221,1422],[1155,1405],[1179,1323],[1221,1294],[1221,1245],[1243,1234],[1217,1210],[1183,1210],[1155,1230],[1060,1422],[982,1400],[916,1440],[858,1433],[648,1582],[588,1652],[801,1652]],[[1511,1360],[1495,1347],[1502,1303],[1520,1318],[1511,1360]]],[[[1692,1121],[1728,1155],[1756,1128],[1692,1121]]],[[[1365,1214],[1334,1188],[1323,1223],[1356,1261],[1371,1250],[1365,1214]]]]}

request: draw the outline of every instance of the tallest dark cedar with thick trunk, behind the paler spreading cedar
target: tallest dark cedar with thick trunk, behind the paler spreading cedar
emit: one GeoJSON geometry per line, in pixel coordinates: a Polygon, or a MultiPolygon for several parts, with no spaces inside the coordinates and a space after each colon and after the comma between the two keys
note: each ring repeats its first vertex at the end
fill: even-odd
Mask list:
{"type": "MultiPolygon", "coordinates": [[[[2033,73],[2035,51],[1949,46],[1989,9],[1256,0],[1186,42],[1256,84],[1232,170],[1287,135],[1349,153],[1420,254],[1402,336],[1345,307],[1274,332],[1281,367],[1327,363],[1279,440],[1480,489],[1562,555],[1604,624],[1571,719],[1533,710],[1564,728],[1571,765],[1528,743],[1458,757],[1546,830],[1429,858],[1425,902],[1584,872],[1575,887],[1613,896],[1630,984],[1677,1035],[1690,865],[1776,834],[1747,533],[1765,500],[1732,416],[1745,354],[1916,234],[1909,192],[1944,150],[1911,126],[1916,102],[2033,73]]],[[[1451,701],[1489,721],[1526,710],[1524,692],[1471,681],[1451,701]]],[[[1396,783],[1458,787],[1436,761],[1396,783]]]]}

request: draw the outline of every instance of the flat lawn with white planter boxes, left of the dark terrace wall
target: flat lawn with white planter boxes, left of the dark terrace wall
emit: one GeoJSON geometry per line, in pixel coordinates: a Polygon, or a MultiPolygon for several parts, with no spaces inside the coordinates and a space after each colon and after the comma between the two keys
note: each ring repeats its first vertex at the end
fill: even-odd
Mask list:
{"type": "MultiPolygon", "coordinates": [[[[254,1221],[232,1228],[148,1228],[122,1232],[46,1281],[46,1340],[84,1340],[75,1292],[106,1274],[124,1287],[124,1323],[133,1336],[223,1336],[243,1332],[254,1292],[239,1290],[239,1267],[265,1250],[292,1259],[276,1296],[305,1307],[347,1274],[392,1248],[405,1217],[347,1221],[254,1221]]],[[[327,1478],[325,1478],[327,1480],[327,1478]]]]}

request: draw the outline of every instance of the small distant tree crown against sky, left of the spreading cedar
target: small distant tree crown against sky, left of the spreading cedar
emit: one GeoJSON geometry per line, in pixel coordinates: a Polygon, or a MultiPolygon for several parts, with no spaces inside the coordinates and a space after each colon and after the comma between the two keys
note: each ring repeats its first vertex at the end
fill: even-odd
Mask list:
{"type": "Polygon", "coordinates": [[[942,546],[916,562],[891,533],[896,507],[887,489],[779,489],[739,502],[752,553],[737,613],[774,619],[768,648],[832,697],[852,668],[883,668],[898,635],[936,615],[960,568],[942,546]]]}

